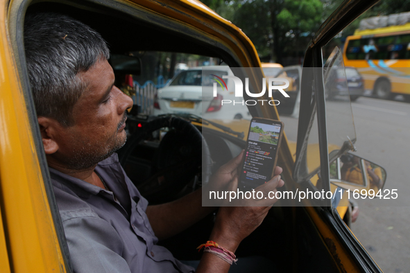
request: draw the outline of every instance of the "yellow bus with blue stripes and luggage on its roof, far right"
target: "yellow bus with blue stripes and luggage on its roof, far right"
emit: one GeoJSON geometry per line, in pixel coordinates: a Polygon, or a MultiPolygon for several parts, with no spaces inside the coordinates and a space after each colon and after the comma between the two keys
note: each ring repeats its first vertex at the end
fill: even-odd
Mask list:
{"type": "Polygon", "coordinates": [[[410,23],[356,30],[346,38],[343,59],[346,67],[357,68],[373,95],[410,100],[410,23]]]}

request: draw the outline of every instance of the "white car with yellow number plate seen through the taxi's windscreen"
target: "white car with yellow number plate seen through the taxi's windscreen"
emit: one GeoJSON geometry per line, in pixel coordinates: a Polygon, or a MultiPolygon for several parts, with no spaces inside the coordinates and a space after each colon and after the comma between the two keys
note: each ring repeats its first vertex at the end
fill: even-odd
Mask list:
{"type": "Polygon", "coordinates": [[[235,100],[232,80],[225,79],[226,88],[218,85],[217,96],[210,95],[214,82],[223,76],[234,74],[228,66],[195,67],[181,71],[168,85],[157,90],[154,114],[188,113],[207,119],[249,119],[251,116],[246,105],[225,103],[235,100]],[[203,77],[203,69],[207,76],[203,77]],[[205,96],[205,93],[208,95],[205,96]]]}

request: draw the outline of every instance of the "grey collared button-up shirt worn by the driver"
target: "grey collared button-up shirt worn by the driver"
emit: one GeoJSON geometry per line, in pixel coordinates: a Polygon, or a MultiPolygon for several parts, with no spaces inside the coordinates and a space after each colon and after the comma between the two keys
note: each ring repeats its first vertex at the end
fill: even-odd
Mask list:
{"type": "Polygon", "coordinates": [[[50,168],[74,272],[194,272],[156,245],[148,201],[124,173],[117,154],[96,173],[110,191],[50,168]]]}

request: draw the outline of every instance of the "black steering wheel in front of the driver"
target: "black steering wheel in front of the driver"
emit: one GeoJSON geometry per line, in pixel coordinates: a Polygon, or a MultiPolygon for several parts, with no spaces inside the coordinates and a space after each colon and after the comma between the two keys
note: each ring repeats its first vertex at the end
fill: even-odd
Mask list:
{"type": "Polygon", "coordinates": [[[169,132],[153,156],[149,178],[136,183],[137,179],[128,174],[139,192],[153,203],[175,200],[185,190],[189,191],[187,185],[192,179],[190,191],[206,184],[211,175],[212,159],[207,142],[194,125],[176,116],[155,118],[133,134],[119,152],[123,168],[133,168],[133,153],[139,143],[163,127],[169,128],[169,132]]]}

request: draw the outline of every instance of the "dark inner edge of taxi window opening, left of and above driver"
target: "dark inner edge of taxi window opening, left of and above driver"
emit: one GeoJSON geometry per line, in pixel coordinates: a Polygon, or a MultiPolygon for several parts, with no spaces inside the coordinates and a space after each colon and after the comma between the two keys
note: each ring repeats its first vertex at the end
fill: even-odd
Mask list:
{"type": "MultiPolygon", "coordinates": [[[[46,1],[46,2],[53,2],[53,1],[46,1]]],[[[82,3],[76,2],[63,2],[58,1],[59,3],[63,3],[67,6],[74,6],[79,9],[85,10],[92,10],[94,12],[105,12],[106,9],[110,9],[115,12],[122,12],[128,15],[136,16],[135,14],[143,14],[149,15],[150,20],[147,19],[148,24],[154,24],[158,27],[164,28],[172,28],[178,26],[178,30],[182,31],[184,28],[189,29],[189,34],[185,34],[186,36],[192,37],[192,39],[196,39],[197,41],[203,42],[204,44],[209,44],[214,46],[215,48],[220,49],[225,54],[226,62],[233,66],[239,66],[241,63],[240,58],[236,55],[236,52],[232,49],[228,48],[225,42],[214,36],[215,39],[212,42],[208,39],[205,39],[205,35],[200,33],[198,29],[198,33],[194,33],[191,31],[191,28],[194,26],[182,24],[181,22],[177,22],[177,20],[173,17],[171,19],[164,17],[164,15],[157,15],[153,10],[146,10],[141,6],[119,6],[117,1],[110,1],[110,0],[101,0],[101,1],[94,1],[94,0],[87,0],[83,1],[82,3]],[[90,8],[90,6],[92,8],[90,8]],[[163,17],[164,20],[153,20],[153,17],[163,17]]],[[[51,177],[49,173],[49,166],[46,161],[46,155],[44,153],[44,148],[42,146],[42,136],[40,134],[40,128],[38,127],[37,123],[37,114],[35,112],[35,105],[33,100],[33,94],[31,92],[29,78],[28,78],[28,71],[26,68],[26,58],[24,53],[24,37],[23,37],[23,27],[24,27],[24,17],[26,15],[26,11],[31,4],[36,3],[33,0],[22,0],[18,2],[12,2],[9,6],[9,14],[15,15],[13,17],[8,17],[8,30],[10,33],[10,49],[14,53],[15,58],[15,67],[17,69],[17,73],[19,76],[19,84],[22,86],[22,94],[24,95],[24,101],[26,103],[26,111],[28,112],[28,123],[31,126],[31,134],[33,135],[33,142],[35,143],[35,151],[37,153],[37,159],[40,165],[41,175],[43,179],[43,185],[46,192],[46,197],[49,202],[49,209],[51,211],[51,215],[53,218],[53,224],[55,228],[55,234],[58,238],[58,244],[60,247],[60,251],[62,254],[62,260],[64,261],[64,267],[66,272],[72,273],[72,267],[70,262],[70,255],[69,249],[67,245],[67,240],[65,238],[64,229],[62,226],[62,221],[60,218],[60,213],[58,211],[57,202],[55,201],[55,196],[53,193],[53,186],[51,184],[51,177]]],[[[145,18],[145,17],[143,17],[145,18]]],[[[212,35],[207,33],[207,35],[212,35]]],[[[56,246],[57,247],[57,246],[56,246]]]]}

